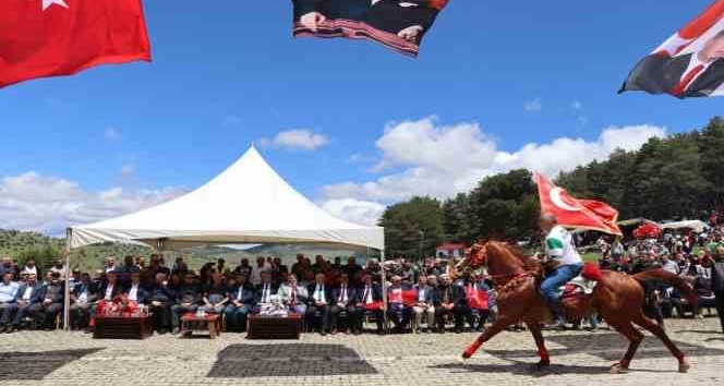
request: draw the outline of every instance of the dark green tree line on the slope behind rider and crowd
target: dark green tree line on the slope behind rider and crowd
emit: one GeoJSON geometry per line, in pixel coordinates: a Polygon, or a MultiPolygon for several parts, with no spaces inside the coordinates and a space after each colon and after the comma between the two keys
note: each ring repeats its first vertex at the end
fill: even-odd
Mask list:
{"type": "MultiPolygon", "coordinates": [[[[580,198],[617,208],[620,219],[708,219],[724,212],[724,119],[701,130],[653,137],[640,149],[562,172],[556,184],[580,198]]],[[[390,205],[385,227],[388,255],[434,255],[444,241],[520,240],[539,237],[540,204],[531,171],[482,178],[470,192],[438,201],[412,197],[390,205]]]]}

